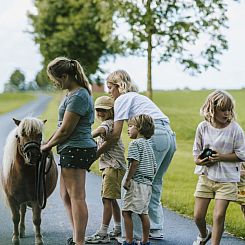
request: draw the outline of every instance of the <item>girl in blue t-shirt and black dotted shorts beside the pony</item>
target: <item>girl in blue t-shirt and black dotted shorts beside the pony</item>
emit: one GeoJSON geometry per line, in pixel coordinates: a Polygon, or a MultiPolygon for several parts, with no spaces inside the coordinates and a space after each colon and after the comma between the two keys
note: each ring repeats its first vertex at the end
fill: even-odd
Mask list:
{"type": "Polygon", "coordinates": [[[76,60],[58,57],[47,67],[50,80],[68,93],[59,107],[58,129],[42,151],[57,146],[60,154],[60,193],[70,218],[73,237],[67,244],[84,245],[88,220],[85,201],[86,170],[96,159],[96,143],[91,135],[94,119],[89,82],[76,60]]]}

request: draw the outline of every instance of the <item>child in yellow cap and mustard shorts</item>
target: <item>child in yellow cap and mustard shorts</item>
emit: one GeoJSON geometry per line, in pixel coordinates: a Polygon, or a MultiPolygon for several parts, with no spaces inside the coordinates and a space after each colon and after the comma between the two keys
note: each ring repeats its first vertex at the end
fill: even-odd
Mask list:
{"type": "MultiPolygon", "coordinates": [[[[114,101],[109,96],[101,96],[95,101],[96,117],[102,122],[92,132],[98,137],[98,148],[110,137],[113,130],[114,101]]],[[[101,196],[103,202],[103,218],[100,229],[92,236],[86,237],[86,243],[109,243],[121,235],[120,208],[116,199],[121,198],[121,182],[126,170],[124,146],[121,138],[99,158],[99,168],[102,171],[101,196]],[[111,217],[114,219],[114,230],[108,233],[111,217]]]]}

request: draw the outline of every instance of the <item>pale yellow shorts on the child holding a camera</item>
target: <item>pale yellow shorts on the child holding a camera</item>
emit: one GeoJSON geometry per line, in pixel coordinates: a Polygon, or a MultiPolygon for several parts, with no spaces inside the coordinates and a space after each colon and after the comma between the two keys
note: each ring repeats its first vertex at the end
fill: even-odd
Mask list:
{"type": "Polygon", "coordinates": [[[194,196],[210,199],[236,201],[237,183],[216,182],[208,179],[206,175],[200,175],[194,196]]]}

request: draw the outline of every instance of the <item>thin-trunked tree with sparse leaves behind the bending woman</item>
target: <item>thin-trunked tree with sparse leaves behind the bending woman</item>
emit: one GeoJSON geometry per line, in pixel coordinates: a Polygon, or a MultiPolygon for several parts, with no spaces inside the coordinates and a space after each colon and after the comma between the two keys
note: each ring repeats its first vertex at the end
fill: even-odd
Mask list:
{"type": "MultiPolygon", "coordinates": [[[[147,92],[152,98],[152,59],[171,59],[191,74],[218,69],[228,48],[226,0],[118,0],[119,17],[129,25],[129,52],[147,56],[147,92]]],[[[120,18],[119,18],[120,19],[120,18]]]]}

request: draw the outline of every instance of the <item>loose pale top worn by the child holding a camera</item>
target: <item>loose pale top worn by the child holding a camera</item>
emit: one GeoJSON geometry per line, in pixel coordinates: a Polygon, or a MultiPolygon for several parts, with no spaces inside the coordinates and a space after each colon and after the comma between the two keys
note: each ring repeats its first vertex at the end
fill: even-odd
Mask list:
{"type": "MultiPolygon", "coordinates": [[[[237,122],[231,122],[225,128],[215,128],[207,121],[201,122],[193,145],[194,158],[207,147],[221,154],[235,153],[245,161],[244,132],[237,122]]],[[[217,182],[239,182],[240,169],[241,162],[217,162],[210,167],[197,165],[195,174],[205,174],[208,179],[217,182]]]]}

